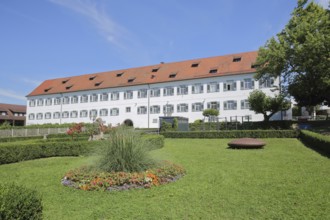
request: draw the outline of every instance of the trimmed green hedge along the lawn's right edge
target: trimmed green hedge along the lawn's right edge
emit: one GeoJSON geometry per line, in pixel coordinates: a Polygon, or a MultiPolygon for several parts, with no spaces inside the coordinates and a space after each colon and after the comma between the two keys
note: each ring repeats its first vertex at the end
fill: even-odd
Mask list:
{"type": "Polygon", "coordinates": [[[301,130],[300,140],[310,148],[320,150],[330,155],[330,136],[318,134],[312,131],[301,130]]]}

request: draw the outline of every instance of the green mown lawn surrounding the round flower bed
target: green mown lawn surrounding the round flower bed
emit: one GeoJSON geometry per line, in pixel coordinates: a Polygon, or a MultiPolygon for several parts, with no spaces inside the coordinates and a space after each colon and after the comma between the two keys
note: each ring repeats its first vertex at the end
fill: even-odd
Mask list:
{"type": "Polygon", "coordinates": [[[230,150],[225,139],[166,139],[156,158],[187,175],[147,190],[88,192],[63,187],[87,157],[0,166],[1,182],[37,189],[45,219],[329,219],[330,160],[296,139],[265,139],[263,150],[230,150]]]}

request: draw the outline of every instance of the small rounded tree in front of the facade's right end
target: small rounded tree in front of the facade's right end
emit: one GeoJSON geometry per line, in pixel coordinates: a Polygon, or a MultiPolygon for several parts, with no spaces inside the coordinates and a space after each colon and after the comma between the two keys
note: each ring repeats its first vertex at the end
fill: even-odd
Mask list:
{"type": "Polygon", "coordinates": [[[284,99],[282,95],[275,95],[275,97],[266,96],[260,90],[254,90],[248,97],[250,109],[256,114],[263,114],[264,121],[269,119],[279,111],[285,111],[290,108],[290,103],[284,99]]]}

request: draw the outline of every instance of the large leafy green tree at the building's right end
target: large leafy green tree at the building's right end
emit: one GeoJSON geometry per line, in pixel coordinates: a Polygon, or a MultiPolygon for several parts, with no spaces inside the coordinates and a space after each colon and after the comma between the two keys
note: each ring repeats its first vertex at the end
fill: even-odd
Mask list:
{"type": "Polygon", "coordinates": [[[330,106],[330,11],[307,2],[298,0],[285,28],[259,49],[255,77],[281,77],[298,106],[330,106]]]}

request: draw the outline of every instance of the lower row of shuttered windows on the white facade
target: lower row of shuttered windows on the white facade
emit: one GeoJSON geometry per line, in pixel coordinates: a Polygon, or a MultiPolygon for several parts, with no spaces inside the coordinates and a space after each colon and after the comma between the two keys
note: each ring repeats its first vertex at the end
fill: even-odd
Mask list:
{"type": "MultiPolygon", "coordinates": [[[[189,111],[189,105],[187,103],[181,103],[176,106],[176,110],[178,113],[182,112],[188,112],[189,111]]],[[[237,110],[237,101],[235,100],[228,100],[223,102],[223,107],[224,110],[237,110]]],[[[241,100],[241,109],[249,109],[249,102],[248,100],[241,100]]],[[[207,103],[207,108],[212,108],[212,109],[217,109],[220,110],[220,102],[208,102],[207,103]]],[[[137,114],[142,115],[142,114],[147,114],[147,106],[139,106],[137,107],[137,114]]],[[[160,105],[152,105],[150,106],[150,114],[160,114],[160,105]]],[[[203,102],[196,102],[191,104],[191,111],[192,112],[201,112],[204,110],[204,103],[203,102]]],[[[126,113],[131,112],[131,107],[126,107],[125,108],[126,113]]],[[[163,113],[174,113],[174,105],[172,104],[167,104],[163,106],[163,113]]],[[[87,110],[81,110],[79,112],[79,117],[80,118],[86,118],[86,117],[97,117],[97,116],[108,116],[109,115],[109,110],[108,109],[100,109],[99,111],[96,109],[92,109],[89,112],[87,110]]],[[[119,108],[111,108],[110,109],[110,116],[118,116],[119,115],[119,108]]],[[[52,113],[51,112],[46,112],[45,114],[43,113],[37,113],[36,115],[34,113],[29,114],[29,120],[34,120],[35,118],[40,120],[43,119],[51,119],[52,118],[52,113]]],[[[64,111],[62,112],[62,117],[60,112],[54,112],[53,113],[53,118],[58,119],[58,118],[78,118],[78,111],[64,111]]]]}

